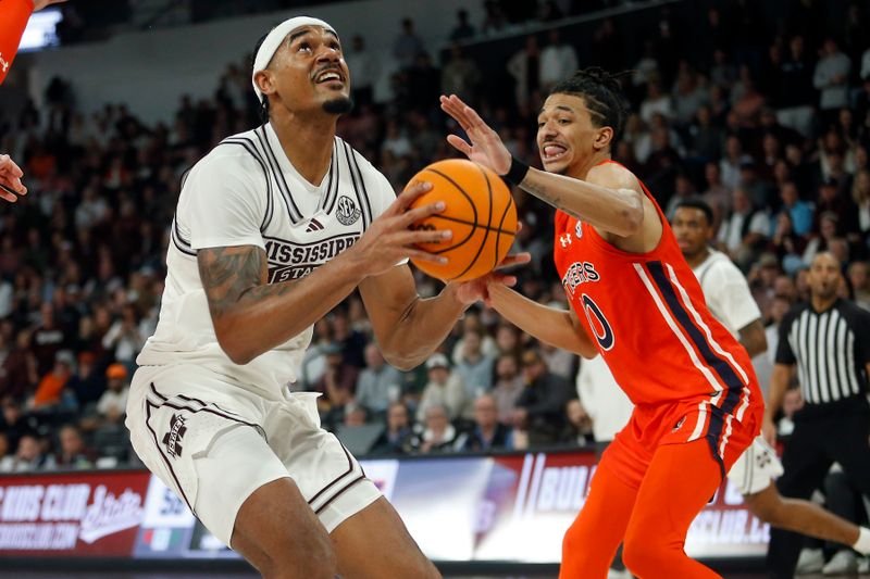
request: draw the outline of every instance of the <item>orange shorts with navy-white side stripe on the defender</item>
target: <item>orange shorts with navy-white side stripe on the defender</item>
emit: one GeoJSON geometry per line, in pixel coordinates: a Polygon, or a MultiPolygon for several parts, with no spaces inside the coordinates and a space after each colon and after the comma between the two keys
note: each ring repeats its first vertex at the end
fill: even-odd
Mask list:
{"type": "Polygon", "coordinates": [[[710,456],[719,463],[724,478],[737,457],[751,444],[760,427],[760,420],[751,412],[746,413],[741,423],[709,404],[705,404],[701,412],[699,402],[638,404],[601,460],[606,456],[620,480],[639,489],[659,445],[683,444],[705,438],[710,446],[710,456]]]}

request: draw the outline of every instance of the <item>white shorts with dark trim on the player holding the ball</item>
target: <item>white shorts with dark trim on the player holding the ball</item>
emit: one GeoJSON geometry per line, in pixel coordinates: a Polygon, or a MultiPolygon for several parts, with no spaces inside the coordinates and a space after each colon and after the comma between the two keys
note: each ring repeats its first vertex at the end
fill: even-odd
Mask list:
{"type": "Polygon", "coordinates": [[[269,400],[200,366],[144,366],[133,377],[126,425],[139,458],[225,544],[245,500],[283,477],[332,532],[381,492],[320,427],[316,397],[269,400]]]}

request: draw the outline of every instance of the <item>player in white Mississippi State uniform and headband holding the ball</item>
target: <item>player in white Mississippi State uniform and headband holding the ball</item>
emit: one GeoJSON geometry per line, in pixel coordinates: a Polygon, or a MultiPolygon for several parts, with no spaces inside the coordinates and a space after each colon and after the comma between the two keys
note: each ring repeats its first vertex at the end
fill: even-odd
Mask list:
{"type": "MultiPolygon", "coordinates": [[[[222,141],[184,181],[154,335],[127,406],[142,462],[269,579],[438,577],[360,465],[290,393],[312,324],[359,288],[390,364],[415,366],[467,305],[418,297],[413,243],[386,178],[335,136],[350,77],[332,26],[294,17],[254,51],[264,125],[222,141]],[[399,264],[399,265],[397,265],[399,264]],[[420,328],[425,328],[421,331],[420,328]]],[[[510,281],[510,280],[508,280],[510,281]]]]}

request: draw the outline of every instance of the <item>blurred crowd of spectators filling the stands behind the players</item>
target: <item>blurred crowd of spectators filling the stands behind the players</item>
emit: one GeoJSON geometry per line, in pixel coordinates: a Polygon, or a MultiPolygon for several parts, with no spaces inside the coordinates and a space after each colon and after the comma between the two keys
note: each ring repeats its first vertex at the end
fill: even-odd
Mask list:
{"type": "MultiPolygon", "coordinates": [[[[460,12],[445,41],[501,29],[515,17],[504,4],[487,1],[480,23],[460,12]]],[[[540,2],[533,15],[552,28],[518,37],[504,71],[481,66],[468,45],[430,51],[410,18],[389,55],[348,35],[357,106],[338,133],[400,191],[422,166],[453,155],[444,137],[458,128],[437,97],[455,92],[514,155],[539,166],[535,112],[549,86],[579,63],[631,70],[621,80],[633,113],[614,158],[666,213],[695,197],[713,207],[713,243],[747,275],[769,340],[807,298],[806,267],[820,251],[844,264],[843,294],[870,309],[868,14],[856,3],[824,29],[823,2],[791,2],[781,23],[751,1],[708,4],[694,23],[700,45],[676,34],[684,26],[666,7],[638,53],[622,48],[614,17],[599,22],[593,53],[581,59],[576,39],[559,29],[558,4],[540,2]],[[397,63],[386,100],[373,98],[377,59],[397,63]],[[509,75],[513,89],[488,90],[495,74],[509,75]]],[[[181,178],[221,139],[259,123],[248,71],[228,64],[211,99],[179,96],[169,124],[145,125],[123,104],[85,115],[74,79],[60,78],[44,106],[0,117],[0,150],[20,161],[30,190],[0,207],[0,471],[135,462],[124,402],[157,324],[181,178]]],[[[513,192],[524,223],[514,250],[533,255],[517,272],[519,290],[564,307],[552,211],[513,192]]],[[[436,291],[437,281],[417,276],[421,294],[436,291]]],[[[315,325],[291,388],[322,392],[327,428],[381,425],[373,453],[582,445],[594,436],[579,369],[576,356],[475,307],[425,364],[401,373],[384,362],[353,294],[315,325]]]]}

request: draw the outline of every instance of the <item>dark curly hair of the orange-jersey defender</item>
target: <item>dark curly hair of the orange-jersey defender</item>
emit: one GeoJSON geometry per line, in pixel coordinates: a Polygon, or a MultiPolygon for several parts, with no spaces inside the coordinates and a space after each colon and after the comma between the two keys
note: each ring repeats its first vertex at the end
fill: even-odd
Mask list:
{"type": "Polygon", "coordinates": [[[613,138],[610,141],[612,149],[622,137],[625,117],[629,114],[629,106],[619,84],[619,78],[631,72],[610,74],[599,66],[588,66],[557,83],[550,89],[550,95],[582,97],[586,101],[593,124],[596,127],[613,129],[613,138]]]}

